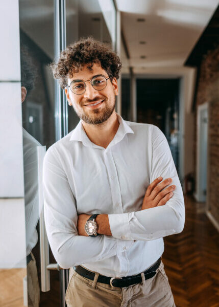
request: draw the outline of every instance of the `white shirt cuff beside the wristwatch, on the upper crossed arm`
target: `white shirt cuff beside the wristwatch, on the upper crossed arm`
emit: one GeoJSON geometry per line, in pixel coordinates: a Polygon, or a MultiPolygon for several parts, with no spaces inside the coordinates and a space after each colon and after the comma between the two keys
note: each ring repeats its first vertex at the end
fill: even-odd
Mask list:
{"type": "Polygon", "coordinates": [[[132,240],[128,213],[108,214],[112,236],[116,239],[132,240]]]}

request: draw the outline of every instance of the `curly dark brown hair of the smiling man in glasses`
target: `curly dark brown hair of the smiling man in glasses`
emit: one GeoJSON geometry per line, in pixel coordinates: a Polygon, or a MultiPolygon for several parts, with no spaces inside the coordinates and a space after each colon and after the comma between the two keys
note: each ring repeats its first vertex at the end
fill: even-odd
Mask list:
{"type": "Polygon", "coordinates": [[[115,52],[102,42],[93,37],[81,38],[79,41],[69,45],[60,54],[57,63],[53,62],[50,67],[53,75],[59,80],[59,84],[64,89],[67,84],[67,76],[73,77],[85,64],[92,69],[94,63],[100,63],[108,76],[119,78],[121,61],[115,52]]]}

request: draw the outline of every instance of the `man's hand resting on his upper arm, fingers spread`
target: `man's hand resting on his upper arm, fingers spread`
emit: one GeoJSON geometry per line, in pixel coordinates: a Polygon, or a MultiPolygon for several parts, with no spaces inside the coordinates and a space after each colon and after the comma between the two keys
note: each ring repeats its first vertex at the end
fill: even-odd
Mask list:
{"type": "Polygon", "coordinates": [[[172,179],[167,178],[166,180],[162,181],[162,177],[155,179],[147,188],[147,191],[144,195],[142,208],[149,209],[157,206],[163,206],[166,202],[172,198],[173,191],[175,190],[176,186],[172,185],[168,188],[164,189],[167,185],[171,184],[172,179]],[[160,178],[160,179],[159,179],[160,178]],[[158,184],[161,182],[160,184],[158,184]],[[163,190],[164,189],[164,190],[163,190]]]}

